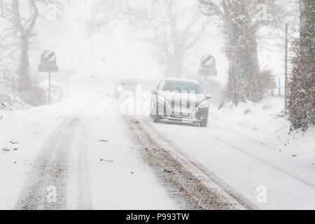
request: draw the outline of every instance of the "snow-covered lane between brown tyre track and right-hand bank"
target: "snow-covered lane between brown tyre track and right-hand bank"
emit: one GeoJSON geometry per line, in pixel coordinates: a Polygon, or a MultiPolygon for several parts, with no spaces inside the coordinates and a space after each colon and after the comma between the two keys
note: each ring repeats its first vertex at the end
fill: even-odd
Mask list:
{"type": "Polygon", "coordinates": [[[211,122],[206,129],[144,122],[255,207],[315,209],[314,166],[211,122]]]}

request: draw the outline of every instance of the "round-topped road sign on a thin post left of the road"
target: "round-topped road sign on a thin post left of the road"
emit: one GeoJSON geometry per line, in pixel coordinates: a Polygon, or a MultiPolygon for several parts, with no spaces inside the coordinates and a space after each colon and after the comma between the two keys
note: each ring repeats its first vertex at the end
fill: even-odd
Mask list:
{"type": "Polygon", "coordinates": [[[42,54],[41,54],[41,64],[38,65],[38,72],[48,72],[48,83],[49,83],[49,87],[48,87],[48,102],[50,104],[50,78],[51,78],[51,73],[58,72],[58,66],[57,66],[57,57],[55,52],[53,52],[52,50],[45,50],[42,54]]]}

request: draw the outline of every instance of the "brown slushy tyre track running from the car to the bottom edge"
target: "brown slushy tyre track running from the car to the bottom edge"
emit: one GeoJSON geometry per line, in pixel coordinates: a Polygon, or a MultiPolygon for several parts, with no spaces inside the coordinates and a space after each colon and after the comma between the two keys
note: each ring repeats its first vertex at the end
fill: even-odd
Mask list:
{"type": "Polygon", "coordinates": [[[182,209],[257,209],[224,186],[222,181],[215,181],[214,174],[193,162],[179,146],[154,130],[151,125],[132,116],[124,118],[141,146],[139,152],[144,161],[153,169],[169,195],[180,206],[184,205],[182,209]],[[181,158],[174,155],[174,151],[181,158]]]}

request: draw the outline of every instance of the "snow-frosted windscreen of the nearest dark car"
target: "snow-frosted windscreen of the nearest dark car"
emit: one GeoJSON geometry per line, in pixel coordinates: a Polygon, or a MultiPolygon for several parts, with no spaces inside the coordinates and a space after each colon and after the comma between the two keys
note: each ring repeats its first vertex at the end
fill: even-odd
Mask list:
{"type": "Polygon", "coordinates": [[[169,92],[193,92],[195,94],[202,94],[202,88],[197,83],[176,80],[165,81],[162,90],[169,92]]]}

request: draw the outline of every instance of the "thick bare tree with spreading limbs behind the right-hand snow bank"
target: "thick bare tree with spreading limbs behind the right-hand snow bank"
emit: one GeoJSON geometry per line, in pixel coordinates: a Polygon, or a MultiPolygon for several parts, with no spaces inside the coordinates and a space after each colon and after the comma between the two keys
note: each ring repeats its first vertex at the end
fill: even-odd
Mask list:
{"type": "Polygon", "coordinates": [[[286,15],[283,1],[200,0],[202,12],[216,15],[223,23],[227,38],[226,54],[229,59],[228,97],[237,105],[246,99],[262,99],[261,73],[258,61],[258,30],[279,22],[286,15]]]}

